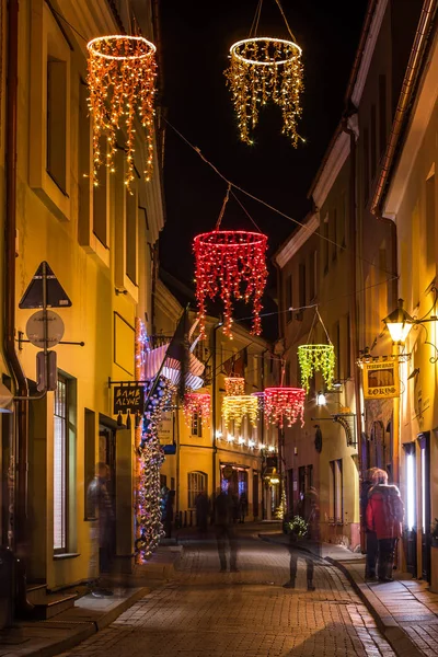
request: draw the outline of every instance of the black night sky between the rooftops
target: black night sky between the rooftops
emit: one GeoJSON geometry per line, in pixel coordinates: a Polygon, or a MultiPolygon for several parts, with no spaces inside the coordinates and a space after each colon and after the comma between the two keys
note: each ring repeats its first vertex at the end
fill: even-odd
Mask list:
{"type": "MultiPolygon", "coordinates": [[[[281,135],[280,108],[272,105],[260,114],[254,146],[239,140],[223,71],[232,43],[249,36],[256,4],[256,0],[160,2],[162,104],[169,122],[227,178],[301,221],[311,209],[307,194],[343,112],[367,2],[281,2],[303,50],[303,112],[298,131],[306,143],[298,149],[281,135]]],[[[257,34],[288,38],[275,0],[264,0],[257,34]]],[[[215,228],[227,185],[169,126],[164,186],[166,223],[160,238],[161,266],[193,287],[193,238],[215,228]]],[[[268,235],[270,255],[296,224],[241,193],[238,196],[268,235]]],[[[232,197],[221,228],[254,230],[232,197]]],[[[273,289],[272,269],[268,287],[273,289]]]]}

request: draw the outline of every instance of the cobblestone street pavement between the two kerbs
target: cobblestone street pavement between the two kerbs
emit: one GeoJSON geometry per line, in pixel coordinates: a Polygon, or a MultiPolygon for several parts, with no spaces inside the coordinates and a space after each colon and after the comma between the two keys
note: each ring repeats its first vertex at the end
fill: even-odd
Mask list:
{"type": "Polygon", "coordinates": [[[306,558],[295,588],[288,549],[242,534],[239,573],[219,573],[212,540],[187,541],[175,578],[64,657],[394,657],[335,567],[306,558]]]}

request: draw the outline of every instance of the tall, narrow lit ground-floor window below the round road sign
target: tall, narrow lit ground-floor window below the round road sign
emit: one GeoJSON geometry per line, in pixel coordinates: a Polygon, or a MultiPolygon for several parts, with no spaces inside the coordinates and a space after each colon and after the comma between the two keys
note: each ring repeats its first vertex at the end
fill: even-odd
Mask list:
{"type": "Polygon", "coordinates": [[[68,380],[58,374],[54,410],[54,552],[67,552],[68,380]]]}

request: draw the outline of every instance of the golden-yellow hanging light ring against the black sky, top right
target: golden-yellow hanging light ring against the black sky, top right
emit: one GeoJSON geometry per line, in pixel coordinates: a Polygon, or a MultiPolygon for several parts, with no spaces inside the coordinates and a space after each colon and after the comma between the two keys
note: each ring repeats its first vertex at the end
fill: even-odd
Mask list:
{"type": "Polygon", "coordinates": [[[240,138],[253,143],[251,131],[261,106],[273,101],[283,114],[283,134],[297,147],[303,90],[301,48],[292,41],[254,36],[233,44],[230,67],[224,71],[238,115],[240,138]]]}

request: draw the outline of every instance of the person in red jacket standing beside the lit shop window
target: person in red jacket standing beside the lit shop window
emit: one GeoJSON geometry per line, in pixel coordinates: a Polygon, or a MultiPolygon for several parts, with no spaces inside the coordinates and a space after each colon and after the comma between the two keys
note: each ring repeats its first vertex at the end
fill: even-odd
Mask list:
{"type": "Polygon", "coordinates": [[[391,581],[395,545],[402,535],[404,507],[399,488],[388,484],[384,470],[377,470],[373,481],[377,483],[368,493],[367,529],[377,534],[379,580],[391,581]]]}

